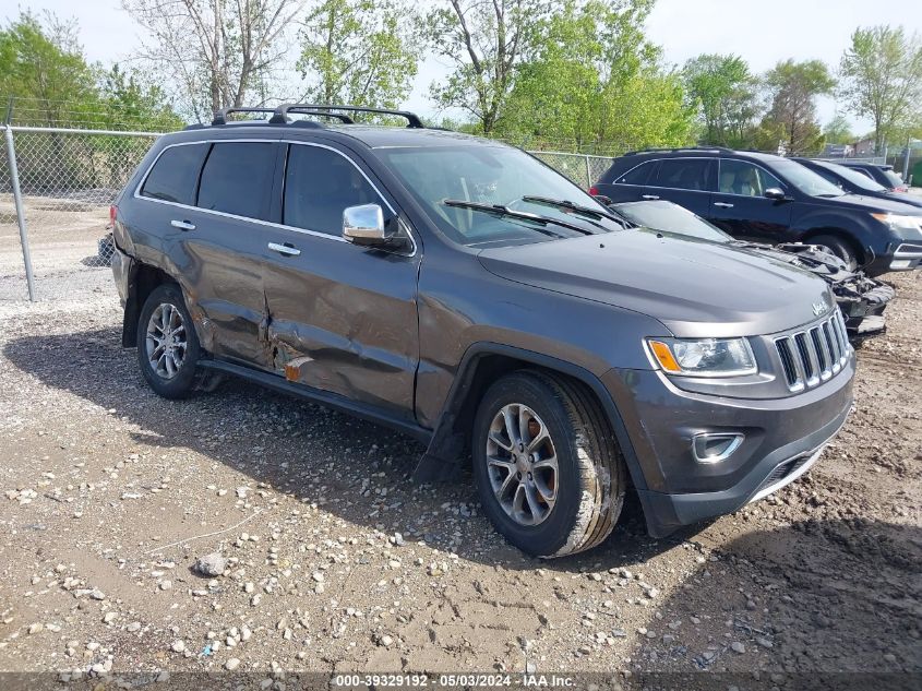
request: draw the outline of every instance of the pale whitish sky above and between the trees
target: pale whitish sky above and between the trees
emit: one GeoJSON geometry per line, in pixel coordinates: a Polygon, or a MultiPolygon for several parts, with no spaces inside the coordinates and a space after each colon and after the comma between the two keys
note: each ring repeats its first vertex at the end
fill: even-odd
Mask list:
{"type": "MultiPolygon", "coordinates": [[[[139,29],[118,0],[0,1],[0,14],[7,19],[20,8],[36,12],[47,9],[61,17],[76,17],[84,50],[93,61],[122,60],[137,41],[139,29]]],[[[922,2],[658,0],[647,22],[647,35],[662,46],[670,63],[681,64],[702,52],[733,52],[747,60],[754,71],[762,72],[786,58],[818,58],[836,67],[855,26],[873,24],[902,24],[910,32],[922,33],[922,2]]],[[[444,72],[445,68],[434,59],[426,60],[406,107],[432,115],[427,98],[429,84],[444,72]]],[[[826,122],[835,112],[835,102],[822,99],[821,119],[826,122]]],[[[869,129],[867,122],[855,126],[859,130],[869,129]]]]}

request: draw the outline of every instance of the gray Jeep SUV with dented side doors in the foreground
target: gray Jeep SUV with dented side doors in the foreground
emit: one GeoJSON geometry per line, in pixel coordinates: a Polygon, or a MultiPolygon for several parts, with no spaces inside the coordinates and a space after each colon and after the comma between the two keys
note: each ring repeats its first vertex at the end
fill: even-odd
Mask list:
{"type": "Polygon", "coordinates": [[[470,458],[499,532],[544,557],[601,543],[628,490],[654,536],[735,511],[845,422],[854,357],[819,278],[356,110],[221,112],[147,154],[112,270],[158,394],[239,376],[424,441],[421,480],[470,458]]]}

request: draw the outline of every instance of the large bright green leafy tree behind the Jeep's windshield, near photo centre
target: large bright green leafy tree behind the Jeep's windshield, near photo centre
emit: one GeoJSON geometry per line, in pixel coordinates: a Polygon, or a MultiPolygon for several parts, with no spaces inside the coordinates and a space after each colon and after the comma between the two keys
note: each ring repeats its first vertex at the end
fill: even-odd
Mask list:
{"type": "Polygon", "coordinates": [[[651,2],[565,2],[536,28],[500,131],[529,145],[615,151],[687,143],[681,82],[658,67],[643,22],[651,2]]]}

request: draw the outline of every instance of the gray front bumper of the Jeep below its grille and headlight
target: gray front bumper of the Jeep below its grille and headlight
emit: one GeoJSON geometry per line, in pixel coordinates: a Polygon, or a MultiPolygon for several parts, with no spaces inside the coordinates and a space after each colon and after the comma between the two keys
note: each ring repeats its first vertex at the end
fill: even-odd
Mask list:
{"type": "Polygon", "coordinates": [[[606,384],[640,466],[634,484],[650,535],[732,513],[797,479],[848,418],[853,374],[852,356],[816,389],[744,401],[681,391],[656,371],[611,370],[606,384]],[[701,463],[692,449],[701,433],[744,440],[726,460],[701,463]]]}

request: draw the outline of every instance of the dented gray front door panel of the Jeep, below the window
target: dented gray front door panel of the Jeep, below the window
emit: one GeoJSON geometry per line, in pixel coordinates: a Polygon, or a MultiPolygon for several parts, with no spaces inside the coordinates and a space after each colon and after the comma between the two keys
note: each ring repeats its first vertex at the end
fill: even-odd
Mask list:
{"type": "Polygon", "coordinates": [[[268,323],[262,346],[290,381],[412,418],[419,360],[419,257],[362,248],[334,237],[273,229],[265,243],[268,323]]]}

